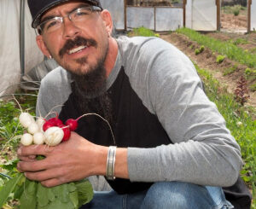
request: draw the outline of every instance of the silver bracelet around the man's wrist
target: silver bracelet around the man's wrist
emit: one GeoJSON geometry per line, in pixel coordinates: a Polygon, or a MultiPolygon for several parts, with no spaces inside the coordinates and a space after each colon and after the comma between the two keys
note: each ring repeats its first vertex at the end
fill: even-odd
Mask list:
{"type": "Polygon", "coordinates": [[[108,148],[107,171],[106,171],[106,177],[107,177],[108,180],[114,180],[115,179],[115,177],[113,175],[114,162],[115,162],[115,153],[116,153],[116,146],[110,146],[108,148]]]}

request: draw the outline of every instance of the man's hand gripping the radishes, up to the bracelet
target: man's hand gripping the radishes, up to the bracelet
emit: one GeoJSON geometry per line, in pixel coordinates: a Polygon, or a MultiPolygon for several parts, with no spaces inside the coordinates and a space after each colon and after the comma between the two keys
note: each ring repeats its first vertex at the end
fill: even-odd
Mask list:
{"type": "Polygon", "coordinates": [[[72,132],[67,142],[55,147],[32,145],[20,147],[18,170],[27,178],[46,187],[78,181],[91,175],[105,175],[108,148],[96,145],[72,132]],[[44,155],[44,160],[35,160],[44,155]]]}

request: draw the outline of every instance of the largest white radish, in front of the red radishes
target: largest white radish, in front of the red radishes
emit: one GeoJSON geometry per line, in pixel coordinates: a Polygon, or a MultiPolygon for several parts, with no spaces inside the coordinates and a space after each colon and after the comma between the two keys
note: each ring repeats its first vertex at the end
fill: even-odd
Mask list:
{"type": "Polygon", "coordinates": [[[45,140],[44,142],[49,146],[55,146],[62,141],[64,136],[64,131],[57,126],[50,127],[44,132],[45,140]]]}

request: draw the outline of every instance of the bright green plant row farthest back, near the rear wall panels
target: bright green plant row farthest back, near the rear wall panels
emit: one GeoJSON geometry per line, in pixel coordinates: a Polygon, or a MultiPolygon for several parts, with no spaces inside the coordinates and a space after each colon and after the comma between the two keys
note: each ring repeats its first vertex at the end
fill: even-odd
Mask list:
{"type": "Polygon", "coordinates": [[[256,67],[256,55],[237,47],[236,44],[207,37],[206,35],[195,32],[189,28],[179,28],[177,29],[177,32],[186,35],[191,40],[198,44],[202,44],[221,55],[226,55],[231,60],[238,61],[248,67],[256,67]]]}

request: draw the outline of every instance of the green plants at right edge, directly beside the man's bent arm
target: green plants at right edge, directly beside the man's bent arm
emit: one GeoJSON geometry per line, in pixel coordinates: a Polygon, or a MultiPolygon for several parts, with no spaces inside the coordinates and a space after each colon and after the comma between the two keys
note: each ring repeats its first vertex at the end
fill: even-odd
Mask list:
{"type": "Polygon", "coordinates": [[[241,107],[234,96],[212,78],[212,75],[204,69],[195,66],[209,99],[214,102],[218,111],[224,116],[227,127],[241,147],[241,155],[244,165],[241,177],[253,190],[253,209],[256,209],[256,120],[253,107],[241,107]]]}

